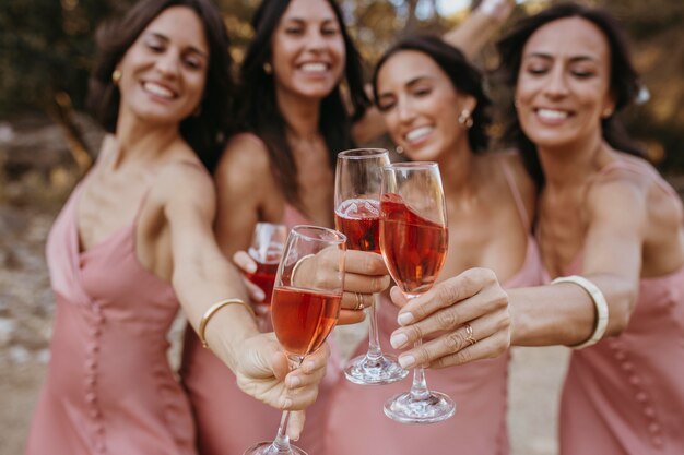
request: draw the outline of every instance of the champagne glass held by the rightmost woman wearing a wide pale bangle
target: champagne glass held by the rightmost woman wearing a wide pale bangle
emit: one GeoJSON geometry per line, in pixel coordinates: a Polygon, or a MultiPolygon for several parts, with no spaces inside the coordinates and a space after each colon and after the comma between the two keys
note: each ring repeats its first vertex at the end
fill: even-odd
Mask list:
{"type": "MultiPolygon", "coordinates": [[[[390,275],[409,299],[429,290],[444,265],[449,237],[446,212],[436,163],[382,168],[380,248],[390,275]]],[[[422,366],[413,370],[411,391],[385,403],[385,414],[403,423],[439,422],[455,411],[451,398],[427,388],[422,366]]]]}

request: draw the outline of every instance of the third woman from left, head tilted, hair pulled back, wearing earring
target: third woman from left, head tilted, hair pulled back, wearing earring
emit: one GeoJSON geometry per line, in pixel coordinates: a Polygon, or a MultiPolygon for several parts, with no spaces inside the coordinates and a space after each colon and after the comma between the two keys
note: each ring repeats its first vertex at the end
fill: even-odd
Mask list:
{"type": "MultiPolygon", "coordinates": [[[[490,100],[482,76],[456,48],[429,36],[409,37],[379,60],[373,80],[376,104],[391,139],[412,160],[439,164],[447,203],[449,252],[441,277],[484,266],[506,287],[541,283],[541,263],[530,224],[535,190],[512,153],[487,153],[490,100]]],[[[506,299],[488,314],[506,324],[506,299]]],[[[496,297],[496,294],[494,295],[496,297]]],[[[397,310],[382,306],[385,339],[397,328],[397,310]]],[[[392,344],[396,339],[392,339],[392,344]]],[[[508,340],[492,343],[507,346],[508,340]]],[[[432,372],[428,384],[457,402],[453,419],[404,426],[382,416],[388,397],[408,384],[381,388],[341,382],[333,392],[328,454],[508,453],[506,381],[508,356],[432,372]],[[353,434],[354,438],[349,435],[353,434]],[[381,447],[380,452],[375,452],[381,447]]]]}

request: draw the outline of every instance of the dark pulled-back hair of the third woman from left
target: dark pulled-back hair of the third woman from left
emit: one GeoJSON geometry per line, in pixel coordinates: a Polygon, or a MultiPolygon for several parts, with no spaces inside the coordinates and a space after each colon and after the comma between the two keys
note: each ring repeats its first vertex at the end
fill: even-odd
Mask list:
{"type": "MultiPolygon", "coordinates": [[[[473,152],[486,151],[488,147],[487,128],[492,123],[488,108],[492,101],[484,93],[482,74],[473,67],[463,52],[448,45],[441,38],[431,35],[414,35],[397,41],[380,57],[373,72],[373,95],[378,99],[378,73],[394,53],[402,50],[415,50],[433,59],[447,74],[457,93],[464,93],[477,101],[473,110],[473,125],[468,130],[468,143],[473,152]]],[[[458,121],[453,119],[455,123],[458,121]]]]}

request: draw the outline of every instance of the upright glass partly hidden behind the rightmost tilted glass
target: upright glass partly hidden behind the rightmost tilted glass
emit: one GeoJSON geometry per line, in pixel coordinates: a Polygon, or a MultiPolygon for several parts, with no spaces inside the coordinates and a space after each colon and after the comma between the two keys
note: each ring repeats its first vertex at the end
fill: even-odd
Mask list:
{"type": "MultiPolygon", "coordinates": [[[[346,236],[351,250],[380,253],[380,182],[389,154],[381,148],[358,148],[338,154],[334,185],[334,219],[346,236]]],[[[380,295],[373,296],[368,320],[368,350],[352,359],[344,369],[355,384],[390,384],[409,374],[397,358],[384,355],[378,338],[377,307],[380,295]]]]}

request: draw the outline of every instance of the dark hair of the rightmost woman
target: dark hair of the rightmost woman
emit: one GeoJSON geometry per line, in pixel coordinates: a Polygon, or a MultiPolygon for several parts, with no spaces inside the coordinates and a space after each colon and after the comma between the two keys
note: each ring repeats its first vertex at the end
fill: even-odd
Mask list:
{"type": "MultiPolygon", "coordinates": [[[[615,149],[644,156],[644,151],[627,135],[624,125],[615,117],[617,111],[635,100],[640,84],[638,74],[632,64],[626,37],[606,11],[569,2],[550,7],[535,15],[521,20],[497,44],[500,56],[500,75],[506,84],[514,88],[518,83],[522,50],[530,36],[543,25],[566,17],[581,17],[591,22],[603,33],[609,45],[611,53],[610,87],[615,100],[615,111],[601,121],[603,139],[615,149]]],[[[522,131],[512,103],[509,106],[509,112],[510,123],[506,131],[506,139],[518,146],[530,176],[541,190],[544,184],[544,173],[536,154],[536,146],[522,131]]]]}

